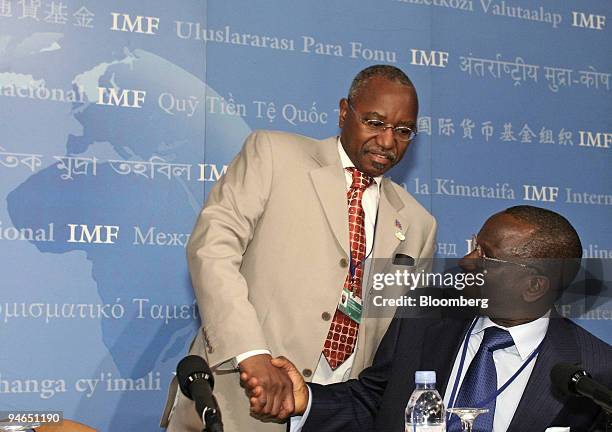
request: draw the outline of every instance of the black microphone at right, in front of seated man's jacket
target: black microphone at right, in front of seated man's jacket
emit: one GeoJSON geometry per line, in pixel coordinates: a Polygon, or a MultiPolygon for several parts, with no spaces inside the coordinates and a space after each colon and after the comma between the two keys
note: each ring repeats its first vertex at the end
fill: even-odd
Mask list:
{"type": "Polygon", "coordinates": [[[557,363],[550,370],[550,380],[564,395],[585,396],[612,413],[612,390],[593,380],[581,366],[557,363]]]}

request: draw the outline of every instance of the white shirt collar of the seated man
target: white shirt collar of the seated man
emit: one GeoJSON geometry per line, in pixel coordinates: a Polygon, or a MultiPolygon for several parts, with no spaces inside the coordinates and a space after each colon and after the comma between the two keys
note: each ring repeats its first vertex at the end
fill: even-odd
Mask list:
{"type": "Polygon", "coordinates": [[[499,327],[507,330],[514,340],[514,345],[521,359],[526,360],[544,340],[549,321],[550,311],[534,321],[512,327],[502,327],[491,321],[489,317],[481,316],[476,321],[472,334],[484,332],[488,327],[499,327]]]}

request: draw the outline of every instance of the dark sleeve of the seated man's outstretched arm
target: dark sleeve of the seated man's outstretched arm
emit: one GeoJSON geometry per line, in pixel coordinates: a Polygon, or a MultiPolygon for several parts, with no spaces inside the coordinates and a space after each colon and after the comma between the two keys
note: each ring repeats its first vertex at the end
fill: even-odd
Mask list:
{"type": "Polygon", "coordinates": [[[391,373],[402,321],[391,322],[374,363],[358,379],[327,386],[308,384],[312,405],[303,432],[371,430],[391,373]]]}

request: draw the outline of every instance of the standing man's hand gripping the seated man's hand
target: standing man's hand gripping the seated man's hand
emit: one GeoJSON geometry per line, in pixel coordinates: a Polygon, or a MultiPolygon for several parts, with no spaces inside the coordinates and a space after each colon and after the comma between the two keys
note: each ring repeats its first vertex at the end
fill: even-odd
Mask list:
{"type": "Polygon", "coordinates": [[[259,354],[240,362],[240,380],[251,402],[251,412],[263,419],[284,420],[295,409],[292,384],[283,368],[272,364],[272,356],[259,354]]]}

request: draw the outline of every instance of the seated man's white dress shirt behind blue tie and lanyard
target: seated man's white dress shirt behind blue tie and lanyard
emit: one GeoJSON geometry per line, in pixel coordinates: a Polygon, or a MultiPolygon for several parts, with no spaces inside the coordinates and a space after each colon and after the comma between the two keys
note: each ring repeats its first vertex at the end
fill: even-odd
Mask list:
{"type": "MultiPolygon", "coordinates": [[[[546,330],[548,329],[549,315],[550,314],[547,313],[535,321],[507,328],[495,324],[488,317],[479,317],[468,340],[465,363],[463,365],[463,369],[461,370],[461,376],[459,377],[457,393],[461,388],[461,383],[463,382],[465,373],[467,372],[472,359],[480,347],[480,343],[482,342],[486,328],[499,327],[501,329],[508,330],[512,336],[512,339],[514,340],[513,346],[493,352],[493,361],[495,362],[495,369],[497,371],[497,388],[500,388],[506,383],[506,381],[508,381],[508,379],[510,379],[510,377],[512,377],[512,375],[514,375],[517,370],[520,369],[527,358],[540,345],[542,340],[544,340],[546,330]]],[[[455,384],[457,377],[464,344],[465,342],[462,343],[461,347],[459,348],[459,352],[455,358],[455,363],[446,385],[444,406],[447,408],[453,407],[454,401],[450,401],[451,392],[453,391],[453,385],[455,384]]],[[[523,397],[523,392],[525,391],[527,381],[529,381],[529,377],[531,376],[535,362],[536,359],[534,358],[516,377],[516,379],[512,381],[512,383],[499,396],[497,396],[492,432],[505,432],[508,429],[508,426],[510,426],[512,417],[514,417],[514,413],[516,412],[516,408],[523,397]]],[[[455,395],[455,399],[457,399],[457,395],[455,395]]]]}

